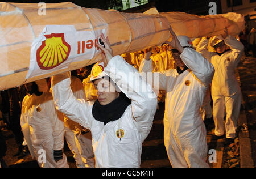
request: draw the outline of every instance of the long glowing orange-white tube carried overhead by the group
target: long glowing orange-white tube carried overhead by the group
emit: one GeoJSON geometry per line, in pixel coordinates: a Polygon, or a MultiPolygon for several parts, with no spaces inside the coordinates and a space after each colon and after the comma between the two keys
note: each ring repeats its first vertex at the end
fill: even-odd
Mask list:
{"type": "MultiPolygon", "coordinates": [[[[170,25],[177,35],[200,37],[220,33],[227,23],[229,33],[237,33],[241,31],[241,25],[237,24],[242,24],[241,20],[237,23],[224,17],[225,15],[221,18],[201,18],[183,12],[129,14],[115,10],[84,8],[71,2],[47,3],[45,14],[40,12],[40,8],[42,7],[37,3],[0,2],[0,90],[47,78],[63,71],[79,69],[100,59],[98,53],[92,54],[89,59],[80,54],[82,49],[79,49],[79,46],[84,48],[86,41],[83,42],[77,37],[77,45],[70,45],[69,49],[71,52],[77,52],[77,56],[69,56],[71,62],[68,65],[63,69],[53,68],[44,74],[26,78],[32,54],[35,53],[32,52],[31,46],[42,36],[47,25],[71,25],[77,32],[90,31],[95,37],[96,32],[105,30],[114,55],[117,55],[162,44],[170,37],[170,25]]],[[[43,41],[41,43],[43,44],[43,41]]],[[[65,44],[65,41],[63,43],[65,44]]]]}

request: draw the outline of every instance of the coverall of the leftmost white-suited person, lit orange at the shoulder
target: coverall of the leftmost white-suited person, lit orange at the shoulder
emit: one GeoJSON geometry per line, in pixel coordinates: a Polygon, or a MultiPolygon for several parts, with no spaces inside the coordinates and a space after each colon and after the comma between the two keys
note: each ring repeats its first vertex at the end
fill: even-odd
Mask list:
{"type": "Polygon", "coordinates": [[[21,124],[28,122],[32,149],[39,167],[68,168],[67,157],[55,161],[53,150],[63,150],[64,123],[63,114],[57,112],[53,104],[52,93],[44,92],[40,96],[27,95],[22,102],[21,124]]]}

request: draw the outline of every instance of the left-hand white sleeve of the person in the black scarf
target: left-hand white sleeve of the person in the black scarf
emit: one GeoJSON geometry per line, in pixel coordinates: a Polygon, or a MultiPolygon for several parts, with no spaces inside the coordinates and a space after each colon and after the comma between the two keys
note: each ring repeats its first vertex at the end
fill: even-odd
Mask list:
{"type": "Polygon", "coordinates": [[[71,90],[70,73],[55,75],[51,79],[52,95],[55,107],[69,119],[90,129],[92,123],[92,105],[84,99],[77,99],[71,90]]]}

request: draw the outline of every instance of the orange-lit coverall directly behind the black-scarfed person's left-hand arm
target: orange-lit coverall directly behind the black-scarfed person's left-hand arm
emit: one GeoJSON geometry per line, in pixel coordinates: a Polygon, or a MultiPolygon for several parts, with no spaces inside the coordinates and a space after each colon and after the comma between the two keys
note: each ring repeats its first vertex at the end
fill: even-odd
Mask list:
{"type": "MultiPolygon", "coordinates": [[[[79,78],[76,76],[71,76],[71,89],[74,96],[77,99],[86,99],[84,86],[79,78]]],[[[74,159],[76,160],[76,166],[78,168],[84,167],[94,167],[94,157],[88,159],[85,155],[82,154],[81,145],[79,140],[76,137],[76,134],[79,134],[83,127],[64,115],[64,126],[65,126],[65,138],[67,140],[68,146],[74,154],[74,159]]],[[[93,151],[92,151],[93,152],[93,151]]]]}

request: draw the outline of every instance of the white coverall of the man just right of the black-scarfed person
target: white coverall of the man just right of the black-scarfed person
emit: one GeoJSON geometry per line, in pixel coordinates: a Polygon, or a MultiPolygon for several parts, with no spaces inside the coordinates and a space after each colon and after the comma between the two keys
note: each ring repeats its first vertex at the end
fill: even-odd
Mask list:
{"type": "MultiPolygon", "coordinates": [[[[164,145],[172,167],[209,167],[205,161],[206,130],[199,109],[214,68],[191,48],[184,48],[180,57],[188,70],[180,75],[176,69],[158,73],[159,89],[166,90],[164,145]]],[[[151,60],[144,59],[139,71],[152,71],[151,60]]]]}

